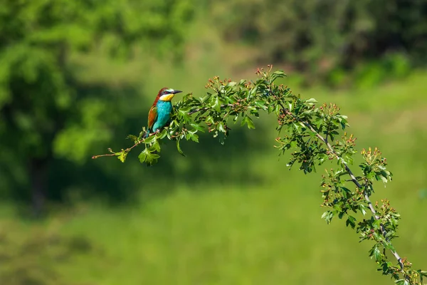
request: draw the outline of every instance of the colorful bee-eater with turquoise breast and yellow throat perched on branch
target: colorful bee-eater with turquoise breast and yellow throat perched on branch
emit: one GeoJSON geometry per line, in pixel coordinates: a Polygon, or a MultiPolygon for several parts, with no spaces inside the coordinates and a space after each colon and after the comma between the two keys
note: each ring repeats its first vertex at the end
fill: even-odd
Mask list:
{"type": "Polygon", "coordinates": [[[172,112],[171,100],[176,93],[180,92],[182,91],[166,87],[160,89],[152,108],[149,109],[148,128],[144,138],[147,138],[149,133],[155,133],[162,129],[168,123],[172,112]]]}

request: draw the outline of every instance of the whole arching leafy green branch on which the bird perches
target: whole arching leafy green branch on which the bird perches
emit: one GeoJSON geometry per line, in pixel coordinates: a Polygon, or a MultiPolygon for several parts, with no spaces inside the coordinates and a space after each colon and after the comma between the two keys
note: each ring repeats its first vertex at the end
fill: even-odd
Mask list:
{"type": "Polygon", "coordinates": [[[142,138],[145,134],[143,129],[139,137],[130,135],[135,140],[132,147],[122,152],[110,152],[124,161],[122,158],[128,152],[143,144],[140,162],[154,165],[160,157],[159,141],[164,138],[176,140],[176,147],[182,153],[179,140],[199,142],[196,133],[204,130],[204,125],[214,138],[222,135],[220,141],[223,142],[231,130],[230,121],[236,123],[240,119],[241,125],[251,129],[255,128],[253,117],[258,118],[260,110],[274,113],[278,123],[276,129],[279,133],[285,131],[283,138],[276,138],[278,145],[275,147],[280,154],[292,150],[288,167],[298,165],[299,170],[308,174],[315,172],[316,167],[327,160],[337,162],[336,168],[327,170],[322,176],[322,207],[327,208],[322,218],[328,223],[333,217],[345,218],[347,227],[355,229],[361,241],[373,241],[369,257],[374,257],[384,275],[390,275],[397,283],[422,284],[424,271],[414,270],[391,243],[397,237],[400,215],[387,200],[381,200],[383,204],[380,207],[370,200],[374,182],[381,181],[385,185],[392,177],[386,170],[386,159],[381,152],[377,148],[362,150],[361,175],[355,176],[349,165],[353,164],[353,156],[357,153],[354,148],[356,139],[353,135],[347,136],[347,116],[339,112],[337,105],[324,103],[317,106],[314,98],[302,99],[300,95],[294,95],[288,86],[275,84],[277,79],[285,77],[285,73],[272,72],[272,66],[268,66],[268,71],[258,68],[256,74],[256,81],[242,80],[239,83],[227,78],[221,80],[218,76],[209,79],[205,87],[210,90],[204,97],[194,98],[187,94],[174,105],[174,114],[167,128],[149,134],[148,138],[142,138]],[[352,212],[367,218],[358,219],[352,212]],[[389,261],[387,250],[396,259],[396,265],[389,261]]]}

